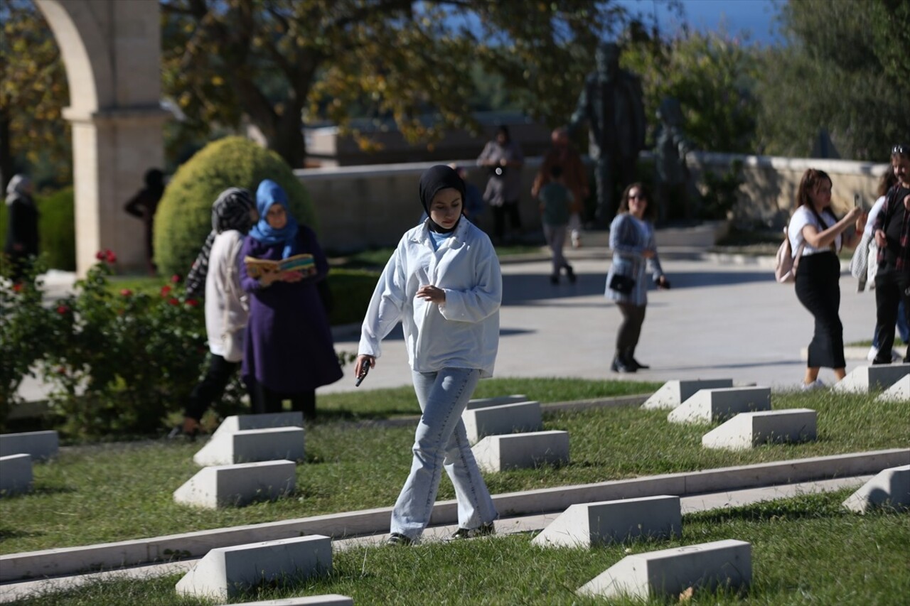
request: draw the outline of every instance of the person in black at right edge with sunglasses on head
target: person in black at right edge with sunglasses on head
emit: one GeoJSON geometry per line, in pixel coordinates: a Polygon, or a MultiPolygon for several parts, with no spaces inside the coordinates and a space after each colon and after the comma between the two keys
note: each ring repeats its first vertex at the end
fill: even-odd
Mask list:
{"type": "MultiPolygon", "coordinates": [[[[895,342],[897,308],[903,301],[904,318],[910,321],[910,145],[891,149],[891,166],[897,183],[885,195],[885,205],[875,217],[878,272],[875,274],[875,340],[878,354],[873,364],[890,364],[895,342]]],[[[904,361],[910,362],[910,345],[904,361]]]]}

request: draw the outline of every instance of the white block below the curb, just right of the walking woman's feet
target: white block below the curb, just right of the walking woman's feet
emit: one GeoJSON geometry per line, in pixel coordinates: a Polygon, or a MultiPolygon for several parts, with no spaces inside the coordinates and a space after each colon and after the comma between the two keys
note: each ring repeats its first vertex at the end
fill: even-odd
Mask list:
{"type": "Polygon", "coordinates": [[[592,547],[682,534],[680,498],[669,495],[571,505],[531,540],[541,547],[592,547]]]}

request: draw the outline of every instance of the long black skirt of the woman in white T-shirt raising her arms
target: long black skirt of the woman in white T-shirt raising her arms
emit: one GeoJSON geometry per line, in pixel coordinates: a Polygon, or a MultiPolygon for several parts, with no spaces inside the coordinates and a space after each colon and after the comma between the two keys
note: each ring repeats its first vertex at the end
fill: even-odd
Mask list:
{"type": "MultiPolygon", "coordinates": [[[[796,272],[796,298],[815,318],[815,332],[809,343],[809,368],[843,369],[844,325],[841,308],[841,263],[833,252],[816,253],[800,259],[796,272]]],[[[891,324],[894,326],[894,323],[891,324]]],[[[894,338],[894,334],[891,335],[894,338]]],[[[891,351],[888,348],[888,351],[891,351]]]]}

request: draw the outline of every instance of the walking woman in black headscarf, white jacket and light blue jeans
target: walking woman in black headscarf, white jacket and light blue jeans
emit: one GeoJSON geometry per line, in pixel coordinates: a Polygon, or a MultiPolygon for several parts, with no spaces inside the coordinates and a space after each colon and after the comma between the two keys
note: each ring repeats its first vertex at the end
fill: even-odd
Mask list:
{"type": "Polygon", "coordinates": [[[420,538],[444,468],[458,498],[453,538],[492,534],[496,509],[461,422],[474,388],[490,377],[499,348],[502,278],[490,237],[461,220],[464,181],[446,166],[420,177],[428,218],[405,233],[363,320],[358,376],[376,365],[379,342],[400,321],[422,415],[410,475],[392,510],[388,542],[420,538]]]}

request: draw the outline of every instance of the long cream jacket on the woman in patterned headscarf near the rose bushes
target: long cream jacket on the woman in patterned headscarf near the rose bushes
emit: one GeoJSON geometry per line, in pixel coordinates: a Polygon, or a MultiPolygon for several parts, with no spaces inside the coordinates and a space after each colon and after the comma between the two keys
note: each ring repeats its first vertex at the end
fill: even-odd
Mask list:
{"type": "Polygon", "coordinates": [[[249,318],[247,293],[240,288],[243,234],[223,231],[212,242],[206,276],[208,348],[228,362],[243,359],[243,332],[249,318]]]}

